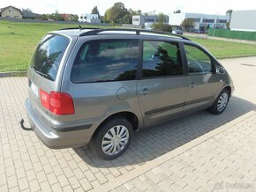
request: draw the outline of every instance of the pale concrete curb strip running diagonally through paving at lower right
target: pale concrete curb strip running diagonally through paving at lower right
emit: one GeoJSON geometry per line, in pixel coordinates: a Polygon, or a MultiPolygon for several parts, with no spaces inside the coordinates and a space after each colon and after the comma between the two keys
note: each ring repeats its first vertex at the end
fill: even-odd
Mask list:
{"type": "Polygon", "coordinates": [[[136,177],[139,177],[139,175],[141,175],[141,174],[145,174],[146,172],[150,171],[152,168],[162,165],[164,162],[168,161],[169,159],[173,159],[173,158],[177,157],[178,155],[184,153],[184,151],[188,151],[188,150],[192,149],[193,147],[205,142],[209,138],[215,137],[216,135],[220,134],[224,130],[230,129],[231,127],[237,125],[239,122],[243,122],[255,114],[256,114],[256,112],[254,112],[254,111],[250,111],[246,114],[243,114],[242,116],[238,117],[237,119],[235,119],[231,122],[228,122],[228,123],[222,125],[221,127],[214,129],[214,130],[208,132],[207,134],[205,134],[201,137],[198,137],[198,138],[192,140],[191,142],[178,147],[177,149],[175,149],[173,151],[169,151],[168,153],[166,153],[154,160],[147,162],[143,166],[140,166],[138,169],[135,169],[127,174],[123,174],[122,176],[117,177],[113,181],[107,182],[107,183],[103,184],[101,187],[94,188],[91,191],[110,191],[110,190],[113,190],[114,188],[124,185],[126,182],[131,181],[132,179],[134,179],[136,177]]]}

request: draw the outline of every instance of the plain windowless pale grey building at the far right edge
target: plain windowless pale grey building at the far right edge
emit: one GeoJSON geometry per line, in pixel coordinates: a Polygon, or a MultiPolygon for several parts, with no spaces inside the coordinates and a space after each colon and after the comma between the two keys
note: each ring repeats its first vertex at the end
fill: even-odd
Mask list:
{"type": "Polygon", "coordinates": [[[256,32],[256,10],[232,11],[230,30],[256,32]]]}

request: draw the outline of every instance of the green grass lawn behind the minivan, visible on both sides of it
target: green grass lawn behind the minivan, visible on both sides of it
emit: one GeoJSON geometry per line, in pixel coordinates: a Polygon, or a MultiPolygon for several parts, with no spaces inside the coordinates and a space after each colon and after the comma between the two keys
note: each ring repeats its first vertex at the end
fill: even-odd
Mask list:
{"type": "MultiPolygon", "coordinates": [[[[0,21],[0,72],[26,70],[36,44],[45,33],[72,26],[77,25],[0,21]]],[[[217,57],[256,55],[255,45],[190,38],[217,57]]]]}

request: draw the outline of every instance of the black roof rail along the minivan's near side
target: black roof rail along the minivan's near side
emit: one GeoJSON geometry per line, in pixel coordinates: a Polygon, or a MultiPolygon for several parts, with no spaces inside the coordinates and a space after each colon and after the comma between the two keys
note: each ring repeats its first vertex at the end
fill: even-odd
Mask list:
{"type": "Polygon", "coordinates": [[[191,41],[190,39],[188,39],[188,38],[186,38],[182,35],[175,34],[175,33],[149,31],[149,30],[145,30],[145,29],[131,29],[131,28],[101,28],[101,29],[98,28],[98,29],[94,29],[92,31],[80,33],[79,36],[82,37],[82,36],[87,36],[87,35],[95,35],[95,34],[99,34],[99,33],[102,33],[102,32],[135,32],[137,35],[139,35],[140,33],[167,34],[167,35],[172,35],[172,36],[179,37],[183,40],[191,41]]]}

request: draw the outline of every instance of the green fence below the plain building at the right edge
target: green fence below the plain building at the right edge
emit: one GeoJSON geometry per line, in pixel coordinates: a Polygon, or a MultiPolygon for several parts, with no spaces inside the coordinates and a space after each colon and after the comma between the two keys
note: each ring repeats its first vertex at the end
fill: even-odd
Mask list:
{"type": "Polygon", "coordinates": [[[209,36],[224,37],[228,39],[256,41],[256,32],[231,31],[229,29],[208,30],[209,36]]]}

